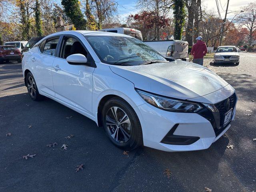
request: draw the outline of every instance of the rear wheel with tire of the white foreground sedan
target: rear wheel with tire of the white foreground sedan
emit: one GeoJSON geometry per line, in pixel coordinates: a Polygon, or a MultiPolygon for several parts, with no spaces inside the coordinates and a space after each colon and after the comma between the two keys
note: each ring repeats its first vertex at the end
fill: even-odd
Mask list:
{"type": "Polygon", "coordinates": [[[36,86],[36,81],[31,72],[28,72],[26,76],[26,84],[27,84],[28,94],[30,98],[32,98],[32,100],[40,101],[44,98],[44,96],[39,94],[38,88],[36,86]]]}

